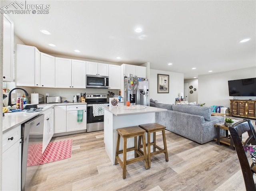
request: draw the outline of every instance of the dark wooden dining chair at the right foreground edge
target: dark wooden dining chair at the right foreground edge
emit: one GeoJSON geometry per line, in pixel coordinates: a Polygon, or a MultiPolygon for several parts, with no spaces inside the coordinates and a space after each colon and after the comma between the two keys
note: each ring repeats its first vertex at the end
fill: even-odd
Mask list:
{"type": "Polygon", "coordinates": [[[256,191],[253,179],[253,175],[256,173],[256,165],[254,163],[252,165],[249,164],[246,150],[244,149],[244,146],[256,145],[256,132],[252,122],[248,119],[236,122],[229,126],[229,131],[241,165],[246,191],[256,191]],[[245,142],[242,142],[242,134],[245,132],[248,133],[248,138],[245,142]]]}

